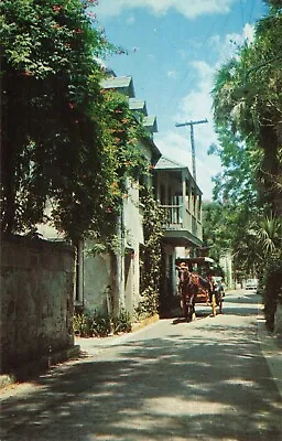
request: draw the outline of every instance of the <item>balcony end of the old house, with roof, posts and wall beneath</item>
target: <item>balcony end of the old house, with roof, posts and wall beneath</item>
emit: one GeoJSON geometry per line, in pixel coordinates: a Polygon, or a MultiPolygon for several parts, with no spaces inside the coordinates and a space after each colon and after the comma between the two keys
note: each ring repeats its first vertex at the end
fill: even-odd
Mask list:
{"type": "Polygon", "coordinates": [[[155,197],[164,211],[164,280],[162,303],[176,292],[175,259],[189,257],[202,246],[202,192],[187,166],[162,157],[154,169],[155,197]]]}

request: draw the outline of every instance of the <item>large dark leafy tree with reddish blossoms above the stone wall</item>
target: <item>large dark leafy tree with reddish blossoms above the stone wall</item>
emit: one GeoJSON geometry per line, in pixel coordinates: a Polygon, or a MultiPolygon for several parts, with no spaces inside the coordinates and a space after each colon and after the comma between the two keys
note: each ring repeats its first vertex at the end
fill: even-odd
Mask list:
{"type": "Polygon", "coordinates": [[[0,4],[2,230],[52,219],[77,239],[102,223],[112,171],[100,125],[101,68],[109,50],[87,1],[0,4]]]}

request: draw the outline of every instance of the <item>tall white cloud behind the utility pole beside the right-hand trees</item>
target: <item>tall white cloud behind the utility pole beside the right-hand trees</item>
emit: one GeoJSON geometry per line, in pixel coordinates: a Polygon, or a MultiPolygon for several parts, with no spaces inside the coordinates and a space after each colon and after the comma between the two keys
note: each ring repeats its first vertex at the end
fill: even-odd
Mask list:
{"type": "MultiPolygon", "coordinates": [[[[196,121],[205,118],[208,120],[208,123],[194,126],[197,183],[203,191],[205,200],[212,200],[212,178],[221,170],[219,158],[207,154],[209,146],[217,143],[217,136],[214,131],[213,99],[210,95],[214,86],[214,75],[225,60],[230,60],[236,54],[238,45],[242,44],[246,39],[251,41],[252,37],[253,28],[250,24],[246,24],[242,34],[227,34],[224,40],[219,35],[214,35],[210,39],[210,43],[218,55],[216,63],[210,65],[200,60],[189,63],[191,68],[196,73],[195,77],[197,82],[191,93],[180,101],[174,121],[196,121]]],[[[189,133],[188,127],[175,128],[174,131],[169,131],[161,137],[158,136],[156,143],[164,155],[187,164],[192,171],[189,133]]]]}

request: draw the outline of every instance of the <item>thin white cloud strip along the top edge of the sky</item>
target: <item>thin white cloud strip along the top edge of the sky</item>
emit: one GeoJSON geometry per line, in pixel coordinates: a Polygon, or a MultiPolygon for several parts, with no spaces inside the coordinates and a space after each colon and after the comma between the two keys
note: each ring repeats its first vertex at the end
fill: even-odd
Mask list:
{"type": "Polygon", "coordinates": [[[236,0],[101,0],[96,7],[98,15],[117,17],[124,10],[147,8],[154,14],[176,10],[188,19],[209,13],[228,13],[236,0]]]}

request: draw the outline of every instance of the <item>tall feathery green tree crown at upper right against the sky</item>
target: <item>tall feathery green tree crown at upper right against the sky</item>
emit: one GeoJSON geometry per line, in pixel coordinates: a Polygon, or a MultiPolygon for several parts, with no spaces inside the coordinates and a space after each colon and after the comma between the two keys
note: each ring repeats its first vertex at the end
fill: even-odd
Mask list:
{"type": "MultiPolygon", "coordinates": [[[[249,157],[261,198],[281,214],[282,15],[275,3],[258,22],[253,43],[218,72],[213,97],[223,150],[226,137],[236,139],[238,150],[249,157]]],[[[231,172],[229,166],[227,174],[231,172]]]]}

